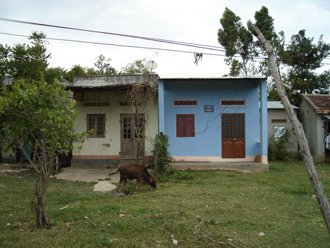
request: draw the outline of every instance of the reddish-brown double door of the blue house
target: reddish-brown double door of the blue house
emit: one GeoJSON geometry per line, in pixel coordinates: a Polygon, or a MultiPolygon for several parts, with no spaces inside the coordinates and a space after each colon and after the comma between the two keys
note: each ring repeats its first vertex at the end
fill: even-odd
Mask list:
{"type": "Polygon", "coordinates": [[[245,157],[245,115],[222,114],[222,157],[245,157]]]}

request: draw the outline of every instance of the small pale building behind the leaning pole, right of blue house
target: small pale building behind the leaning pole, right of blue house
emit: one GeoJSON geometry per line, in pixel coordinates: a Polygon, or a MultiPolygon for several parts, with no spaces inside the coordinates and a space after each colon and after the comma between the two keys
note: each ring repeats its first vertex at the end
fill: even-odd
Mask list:
{"type": "MultiPolygon", "coordinates": [[[[298,107],[291,105],[294,112],[298,107]]],[[[267,102],[268,109],[268,141],[269,138],[279,138],[285,131],[289,131],[289,152],[298,152],[298,138],[293,132],[293,126],[290,122],[288,115],[286,114],[284,105],[280,101],[267,102]]]]}

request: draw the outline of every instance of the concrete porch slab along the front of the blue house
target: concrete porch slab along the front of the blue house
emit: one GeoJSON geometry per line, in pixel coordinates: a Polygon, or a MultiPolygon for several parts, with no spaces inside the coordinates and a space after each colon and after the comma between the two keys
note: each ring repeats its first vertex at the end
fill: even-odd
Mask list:
{"type": "Polygon", "coordinates": [[[269,164],[255,162],[173,162],[171,166],[176,169],[223,169],[269,172],[269,164]]]}

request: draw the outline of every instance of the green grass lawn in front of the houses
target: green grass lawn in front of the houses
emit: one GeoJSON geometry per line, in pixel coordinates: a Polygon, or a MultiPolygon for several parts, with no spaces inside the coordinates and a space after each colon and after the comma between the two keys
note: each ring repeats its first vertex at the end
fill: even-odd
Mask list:
{"type": "MultiPolygon", "coordinates": [[[[330,164],[316,167],[329,197],[330,164]]],[[[0,174],[0,247],[220,247],[194,235],[202,219],[199,235],[236,247],[330,247],[303,163],[271,162],[269,174],[185,172],[194,180],[143,185],[127,196],[53,178],[51,230],[38,230],[31,211],[36,177],[0,174]]]]}

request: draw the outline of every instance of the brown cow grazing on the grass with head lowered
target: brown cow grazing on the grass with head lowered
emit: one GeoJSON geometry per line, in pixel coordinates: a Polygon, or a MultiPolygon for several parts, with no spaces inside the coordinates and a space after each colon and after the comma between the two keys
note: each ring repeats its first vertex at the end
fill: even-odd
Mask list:
{"type": "Polygon", "coordinates": [[[156,179],[149,174],[147,168],[142,164],[125,164],[119,167],[116,172],[110,173],[109,176],[120,173],[119,192],[121,191],[121,183],[124,182],[125,190],[127,191],[126,181],[136,179],[136,191],[140,184],[140,191],[142,191],[142,181],[148,183],[152,188],[156,188],[156,179]]]}

